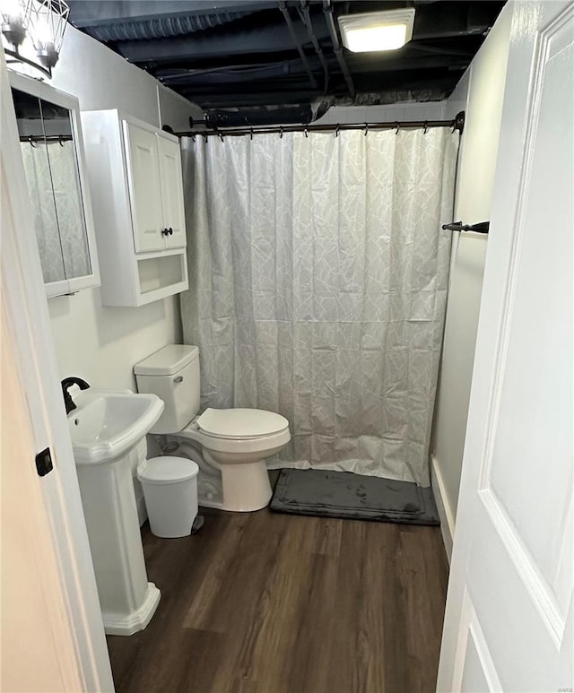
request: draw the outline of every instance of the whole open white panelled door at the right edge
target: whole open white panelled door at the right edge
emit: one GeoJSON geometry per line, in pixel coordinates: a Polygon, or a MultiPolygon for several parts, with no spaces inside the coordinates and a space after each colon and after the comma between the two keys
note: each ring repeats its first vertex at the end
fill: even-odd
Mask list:
{"type": "Polygon", "coordinates": [[[440,691],[567,691],[574,4],[516,3],[440,691]]]}

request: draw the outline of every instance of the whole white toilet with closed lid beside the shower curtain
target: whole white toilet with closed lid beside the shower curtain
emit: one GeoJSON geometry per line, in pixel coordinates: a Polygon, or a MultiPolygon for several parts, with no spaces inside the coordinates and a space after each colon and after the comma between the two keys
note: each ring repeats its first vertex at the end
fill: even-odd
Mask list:
{"type": "MultiPolygon", "coordinates": [[[[170,344],[134,367],[137,389],[157,394],[165,403],[150,433],[201,449],[206,471],[221,472],[222,492],[217,503],[199,498],[200,505],[222,510],[260,510],[272,491],[265,459],[291,440],[289,421],[260,409],[206,409],[199,411],[199,349],[170,344]]],[[[205,471],[205,470],[204,470],[205,471]]],[[[213,478],[213,477],[212,477],[213,478]]],[[[200,483],[201,485],[201,483],[200,483]]]]}

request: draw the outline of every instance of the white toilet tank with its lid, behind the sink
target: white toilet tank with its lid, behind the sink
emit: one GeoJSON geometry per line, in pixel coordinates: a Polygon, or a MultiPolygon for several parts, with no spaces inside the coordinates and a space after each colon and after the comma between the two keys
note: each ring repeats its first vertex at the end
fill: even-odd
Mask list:
{"type": "Polygon", "coordinates": [[[165,403],[150,433],[178,433],[199,411],[199,349],[170,344],[134,366],[137,390],[165,403]]]}

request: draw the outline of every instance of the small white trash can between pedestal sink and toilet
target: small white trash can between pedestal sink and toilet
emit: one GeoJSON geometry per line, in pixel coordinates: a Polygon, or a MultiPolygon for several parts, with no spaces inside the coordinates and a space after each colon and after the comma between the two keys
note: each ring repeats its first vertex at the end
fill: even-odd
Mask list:
{"type": "Polygon", "coordinates": [[[152,457],[137,468],[152,533],[187,537],[197,515],[199,467],[186,457],[152,457]]]}

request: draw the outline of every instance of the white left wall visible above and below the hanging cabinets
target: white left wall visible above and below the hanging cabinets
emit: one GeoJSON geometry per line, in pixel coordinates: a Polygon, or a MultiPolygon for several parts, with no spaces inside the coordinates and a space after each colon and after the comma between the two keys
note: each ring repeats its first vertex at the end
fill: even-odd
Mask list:
{"type": "MultiPolygon", "coordinates": [[[[121,108],[154,126],[188,129],[201,110],[130,65],[109,48],[68,26],[50,82],[73,94],[80,108],[121,108]]],[[[178,298],[141,308],[105,308],[100,290],[48,301],[62,377],[100,387],[135,387],[134,363],[180,338],[178,298]]]]}

